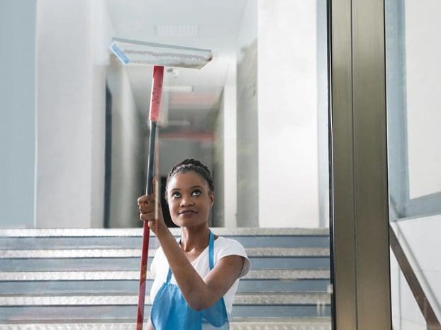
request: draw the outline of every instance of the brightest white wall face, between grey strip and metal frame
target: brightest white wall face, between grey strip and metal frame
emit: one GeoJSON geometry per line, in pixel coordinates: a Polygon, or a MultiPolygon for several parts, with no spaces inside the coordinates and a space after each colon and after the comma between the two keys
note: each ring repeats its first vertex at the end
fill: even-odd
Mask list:
{"type": "Polygon", "coordinates": [[[259,0],[260,227],[318,227],[316,15],[316,1],[259,0]]]}

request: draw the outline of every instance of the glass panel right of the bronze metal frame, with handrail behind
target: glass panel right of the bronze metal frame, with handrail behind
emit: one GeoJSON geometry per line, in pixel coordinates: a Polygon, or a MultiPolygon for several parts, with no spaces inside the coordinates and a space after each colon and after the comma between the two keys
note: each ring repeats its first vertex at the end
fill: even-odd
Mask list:
{"type": "Polygon", "coordinates": [[[393,329],[428,329],[441,319],[441,4],[385,4],[393,329]]]}

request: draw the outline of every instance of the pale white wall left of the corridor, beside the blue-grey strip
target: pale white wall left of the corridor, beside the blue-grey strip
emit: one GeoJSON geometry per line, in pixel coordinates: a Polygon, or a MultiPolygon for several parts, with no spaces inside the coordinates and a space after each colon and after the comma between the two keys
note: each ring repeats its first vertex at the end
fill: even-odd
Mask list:
{"type": "Polygon", "coordinates": [[[38,1],[36,227],[102,227],[105,8],[38,1]]]}

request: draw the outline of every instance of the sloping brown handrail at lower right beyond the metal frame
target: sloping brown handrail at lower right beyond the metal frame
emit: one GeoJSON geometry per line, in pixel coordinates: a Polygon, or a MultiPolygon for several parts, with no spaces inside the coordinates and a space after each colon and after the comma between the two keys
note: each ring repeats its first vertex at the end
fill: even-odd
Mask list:
{"type": "Polygon", "coordinates": [[[401,247],[401,244],[398,241],[395,232],[393,232],[390,224],[389,244],[396,260],[398,261],[401,271],[403,271],[404,278],[406,278],[409,288],[411,288],[413,297],[415,297],[418,307],[420,307],[420,311],[428,325],[428,330],[441,330],[440,321],[437,319],[437,316],[432,309],[432,305],[430,305],[428,297],[425,295],[425,292],[421,287],[415,272],[413,271],[411,263],[409,263],[408,258],[406,257],[406,254],[404,253],[403,248],[401,247]]]}

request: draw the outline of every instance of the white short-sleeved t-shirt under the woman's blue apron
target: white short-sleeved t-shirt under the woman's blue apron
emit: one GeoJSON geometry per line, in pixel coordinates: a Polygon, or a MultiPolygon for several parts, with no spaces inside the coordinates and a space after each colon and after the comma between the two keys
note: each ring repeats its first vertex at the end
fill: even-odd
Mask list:
{"type": "MultiPolygon", "coordinates": [[[[248,259],[242,244],[240,244],[238,241],[235,241],[234,239],[226,239],[224,237],[218,237],[217,239],[215,239],[213,249],[213,259],[215,266],[220,258],[232,255],[242,256],[245,258],[239,278],[247,275],[248,271],[250,270],[250,260],[248,259]]],[[[208,274],[208,272],[210,271],[210,265],[208,263],[208,246],[205,250],[201,252],[201,254],[199,254],[196,259],[194,259],[194,261],[191,262],[191,265],[194,267],[194,269],[196,269],[201,278],[204,278],[208,274]]],[[[150,290],[150,299],[153,303],[157,292],[162,286],[162,283],[167,280],[167,274],[169,271],[169,263],[164,255],[164,251],[162,251],[162,247],[157,249],[155,258],[153,258],[152,265],[150,266],[150,271],[155,277],[155,280],[152,284],[152,289],[150,290]]],[[[238,290],[239,278],[235,280],[235,283],[233,283],[230,290],[228,290],[223,296],[228,317],[230,317],[231,309],[233,308],[233,300],[234,295],[238,290]]],[[[170,279],[170,283],[177,284],[173,275],[170,279]]]]}

